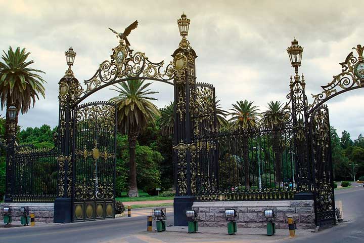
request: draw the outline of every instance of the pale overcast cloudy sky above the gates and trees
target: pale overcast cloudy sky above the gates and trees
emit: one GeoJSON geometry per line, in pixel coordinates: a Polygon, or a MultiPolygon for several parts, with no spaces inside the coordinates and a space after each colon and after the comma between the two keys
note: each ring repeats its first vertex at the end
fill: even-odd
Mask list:
{"type": "MultiPolygon", "coordinates": [[[[341,72],[343,62],[364,37],[357,1],[3,1],[0,0],[0,50],[25,47],[33,68],[46,72],[45,99],[19,117],[22,128],[58,123],[58,81],[66,70],[64,52],[77,53],[73,71],[82,81],[109,59],[118,41],[108,27],[123,29],[138,19],[128,36],[131,48],[152,62],[165,60],[178,47],[176,19],[191,19],[188,39],[196,51],[198,82],[211,83],[224,109],[238,100],[264,110],[270,100],[286,102],[294,73],[286,52],[293,37],[304,47],[300,73],[306,94],[321,92],[341,72]]],[[[158,107],[173,98],[172,87],[155,83],[158,107]]],[[[108,88],[86,101],[115,96],[108,88]]],[[[352,138],[364,133],[364,90],[328,102],[331,125],[352,138]]],[[[4,113],[4,111],[3,111],[4,113]]]]}

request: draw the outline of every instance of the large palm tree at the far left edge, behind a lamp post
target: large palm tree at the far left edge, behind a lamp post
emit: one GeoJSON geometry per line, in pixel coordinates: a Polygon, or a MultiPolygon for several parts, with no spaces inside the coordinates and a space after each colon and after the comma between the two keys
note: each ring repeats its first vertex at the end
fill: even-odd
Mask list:
{"type": "MultiPolygon", "coordinates": [[[[5,134],[9,135],[10,120],[9,107],[14,105],[22,114],[26,113],[30,105],[34,107],[35,99],[39,100],[39,94],[44,98],[43,84],[47,83],[37,73],[45,73],[38,69],[33,69],[29,65],[34,61],[27,61],[30,52],[26,52],[25,48],[20,51],[18,47],[15,52],[9,47],[8,53],[5,51],[3,55],[4,62],[0,62],[0,100],[2,109],[7,108],[5,134]]],[[[15,126],[18,125],[18,114],[15,117],[15,126]]],[[[7,142],[9,142],[7,136],[7,142]]]]}

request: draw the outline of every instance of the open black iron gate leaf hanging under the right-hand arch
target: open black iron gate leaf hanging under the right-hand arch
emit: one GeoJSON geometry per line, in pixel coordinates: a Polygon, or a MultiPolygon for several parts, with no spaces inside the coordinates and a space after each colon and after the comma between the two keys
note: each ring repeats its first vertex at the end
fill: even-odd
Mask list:
{"type": "Polygon", "coordinates": [[[334,180],[331,158],[330,120],[326,105],[310,117],[310,153],[316,225],[335,224],[334,180]]]}

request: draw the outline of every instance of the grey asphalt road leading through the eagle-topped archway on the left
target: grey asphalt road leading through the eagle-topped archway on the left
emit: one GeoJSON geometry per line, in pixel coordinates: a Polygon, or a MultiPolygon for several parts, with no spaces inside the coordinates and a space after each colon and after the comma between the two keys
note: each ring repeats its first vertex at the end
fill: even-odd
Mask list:
{"type": "MultiPolygon", "coordinates": [[[[132,216],[61,225],[14,227],[0,229],[0,243],[50,242],[92,243],[121,238],[147,229],[148,210],[132,210],[132,216]]],[[[167,211],[166,225],[173,224],[173,214],[167,211]]],[[[153,227],[154,222],[153,222],[153,227]]]]}

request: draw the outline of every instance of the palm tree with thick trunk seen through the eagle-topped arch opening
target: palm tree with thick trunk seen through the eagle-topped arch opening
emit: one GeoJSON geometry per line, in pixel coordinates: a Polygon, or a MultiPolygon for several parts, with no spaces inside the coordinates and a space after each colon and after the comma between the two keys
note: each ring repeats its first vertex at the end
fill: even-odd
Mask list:
{"type": "MultiPolygon", "coordinates": [[[[158,92],[147,89],[152,83],[144,84],[144,80],[129,80],[128,82],[114,85],[120,94],[110,99],[118,107],[119,129],[128,135],[129,141],[129,196],[138,196],[136,186],[135,145],[138,135],[148,126],[149,122],[155,122],[160,115],[157,106],[150,100],[157,100],[148,95],[158,92]]],[[[113,89],[114,90],[114,89],[113,89]]]]}

